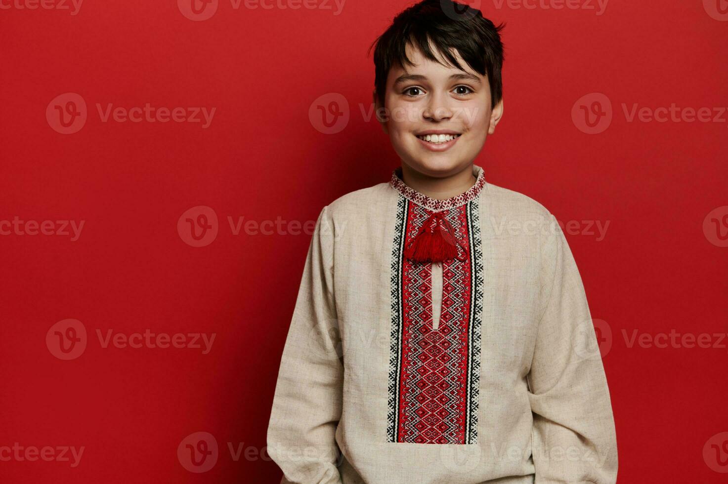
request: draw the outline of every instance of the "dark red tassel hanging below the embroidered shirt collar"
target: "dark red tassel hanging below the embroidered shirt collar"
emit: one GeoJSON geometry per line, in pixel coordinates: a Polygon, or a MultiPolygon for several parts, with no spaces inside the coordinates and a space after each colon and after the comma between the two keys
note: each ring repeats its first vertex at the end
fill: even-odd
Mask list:
{"type": "Polygon", "coordinates": [[[457,258],[459,241],[443,212],[435,212],[424,221],[419,233],[405,248],[405,257],[413,262],[444,262],[457,258]]]}

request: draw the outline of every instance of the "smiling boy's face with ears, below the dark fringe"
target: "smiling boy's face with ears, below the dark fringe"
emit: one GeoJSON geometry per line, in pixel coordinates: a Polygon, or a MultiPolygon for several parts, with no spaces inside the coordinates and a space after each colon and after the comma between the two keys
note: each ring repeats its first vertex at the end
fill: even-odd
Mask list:
{"type": "MultiPolygon", "coordinates": [[[[414,66],[389,70],[385,115],[380,119],[402,162],[435,178],[467,168],[503,114],[502,101],[491,108],[486,76],[470,70],[459,53],[453,53],[467,71],[427,60],[408,44],[407,57],[414,66]],[[430,141],[422,139],[428,134],[430,141]],[[438,136],[433,143],[433,136],[440,134],[456,138],[440,142],[438,136]]],[[[382,107],[376,92],[374,102],[382,107]]]]}

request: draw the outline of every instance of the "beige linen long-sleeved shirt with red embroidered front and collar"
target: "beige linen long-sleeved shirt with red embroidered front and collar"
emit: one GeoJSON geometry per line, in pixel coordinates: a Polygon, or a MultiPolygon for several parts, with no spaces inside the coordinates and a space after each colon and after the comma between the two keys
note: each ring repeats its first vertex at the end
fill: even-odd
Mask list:
{"type": "Polygon", "coordinates": [[[554,216],[487,183],[436,200],[395,170],[316,223],[268,451],[281,483],[615,483],[614,418],[554,216]],[[458,256],[403,253],[440,213],[458,256]]]}

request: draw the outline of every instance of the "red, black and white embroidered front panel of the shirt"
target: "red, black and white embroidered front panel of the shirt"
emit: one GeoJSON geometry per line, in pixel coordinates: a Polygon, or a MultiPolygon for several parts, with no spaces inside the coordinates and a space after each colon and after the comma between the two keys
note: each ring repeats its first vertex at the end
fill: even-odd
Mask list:
{"type": "MultiPolygon", "coordinates": [[[[478,179],[482,176],[481,170],[478,179]]],[[[392,443],[477,443],[483,258],[479,191],[469,192],[461,197],[470,200],[450,199],[450,208],[443,211],[456,237],[467,242],[459,247],[458,258],[442,263],[443,300],[435,329],[432,265],[403,256],[403,247],[432,211],[400,191],[391,278],[387,440],[392,443]]],[[[415,198],[425,197],[425,205],[431,205],[419,195],[415,198]]]]}

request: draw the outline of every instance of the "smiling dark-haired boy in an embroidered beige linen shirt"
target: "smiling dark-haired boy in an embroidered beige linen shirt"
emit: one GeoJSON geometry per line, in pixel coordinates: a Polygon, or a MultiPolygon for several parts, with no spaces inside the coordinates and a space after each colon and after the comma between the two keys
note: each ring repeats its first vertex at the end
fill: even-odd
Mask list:
{"type": "Polygon", "coordinates": [[[268,429],[282,483],[616,482],[566,239],[473,164],[503,114],[501,28],[424,0],[376,41],[402,164],[317,220],[268,429]]]}

